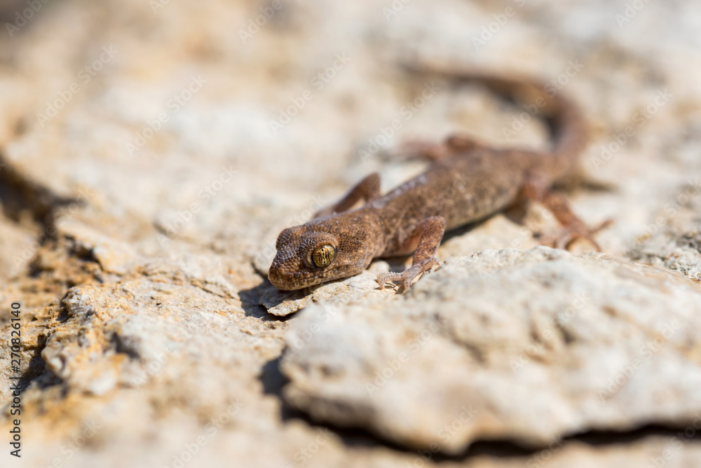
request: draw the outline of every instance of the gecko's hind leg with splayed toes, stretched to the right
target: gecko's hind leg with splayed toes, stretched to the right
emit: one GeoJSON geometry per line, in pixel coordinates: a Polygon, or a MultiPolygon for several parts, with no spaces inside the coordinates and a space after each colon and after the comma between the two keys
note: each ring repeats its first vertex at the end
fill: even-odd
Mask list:
{"type": "Polygon", "coordinates": [[[598,252],[601,252],[601,246],[599,246],[599,242],[594,240],[594,234],[610,226],[613,220],[607,219],[596,228],[587,227],[584,221],[572,211],[566,198],[559,193],[550,191],[549,188],[540,183],[539,179],[536,178],[526,182],[522,194],[528,200],[543,203],[562,226],[559,233],[544,238],[543,244],[554,245],[554,247],[558,249],[567,249],[575,240],[585,239],[590,242],[598,252]]]}

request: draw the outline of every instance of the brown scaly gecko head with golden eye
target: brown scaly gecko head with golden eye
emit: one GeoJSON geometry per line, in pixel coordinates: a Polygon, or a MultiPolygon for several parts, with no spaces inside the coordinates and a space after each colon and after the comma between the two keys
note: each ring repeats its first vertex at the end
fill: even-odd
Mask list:
{"type": "Polygon", "coordinates": [[[332,220],[283,230],[268,280],[278,289],[292,291],[361,273],[365,269],[365,249],[361,249],[365,236],[358,238],[357,232],[341,233],[332,220]]]}

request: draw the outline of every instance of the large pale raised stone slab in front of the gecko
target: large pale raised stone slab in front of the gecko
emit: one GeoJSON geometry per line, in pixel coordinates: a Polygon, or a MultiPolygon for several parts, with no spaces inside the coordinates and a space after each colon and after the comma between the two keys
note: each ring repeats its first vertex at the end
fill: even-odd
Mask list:
{"type": "Polygon", "coordinates": [[[447,259],[390,305],[308,306],[287,337],[285,397],[317,420],[449,453],[685,427],[701,415],[700,330],[701,287],[674,273],[485,250],[447,259]]]}

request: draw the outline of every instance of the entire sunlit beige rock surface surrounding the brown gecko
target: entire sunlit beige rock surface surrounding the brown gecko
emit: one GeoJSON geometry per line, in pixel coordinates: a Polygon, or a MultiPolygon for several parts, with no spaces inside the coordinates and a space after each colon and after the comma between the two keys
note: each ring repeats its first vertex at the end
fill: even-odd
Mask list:
{"type": "Polygon", "coordinates": [[[0,8],[2,467],[701,465],[694,1],[40,3],[0,8]],[[524,109],[394,65],[417,58],[583,106],[563,190],[615,221],[606,255],[536,247],[534,205],[451,233],[407,294],[373,281],[406,259],[268,284],[282,228],[423,170],[403,142],[545,144],[524,109]]]}

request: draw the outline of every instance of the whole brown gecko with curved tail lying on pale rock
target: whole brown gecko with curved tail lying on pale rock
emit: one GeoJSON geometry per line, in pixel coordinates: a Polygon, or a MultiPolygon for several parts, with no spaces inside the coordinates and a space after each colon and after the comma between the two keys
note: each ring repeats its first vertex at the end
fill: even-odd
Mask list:
{"type": "MultiPolygon", "coordinates": [[[[423,70],[425,71],[425,70],[423,70]]],[[[519,203],[542,203],[559,221],[554,247],[566,249],[583,238],[601,251],[593,235],[608,226],[587,225],[574,214],[553,184],[573,174],[588,142],[580,108],[562,92],[546,92],[531,78],[499,78],[470,71],[430,70],[454,83],[475,81],[498,95],[537,106],[550,132],[547,149],[494,148],[464,135],[440,144],[418,144],[417,154],[432,164],[386,194],[374,172],[311,221],[283,230],[268,269],[268,280],[282,290],[303,289],[358,275],[377,258],[413,254],[403,272],[381,273],[376,281],[399,282],[407,291],[414,280],[440,265],[437,249],[446,230],[477,223],[519,203]],[[358,202],[362,206],[355,207],[358,202]]]]}

